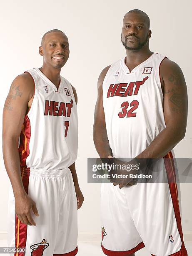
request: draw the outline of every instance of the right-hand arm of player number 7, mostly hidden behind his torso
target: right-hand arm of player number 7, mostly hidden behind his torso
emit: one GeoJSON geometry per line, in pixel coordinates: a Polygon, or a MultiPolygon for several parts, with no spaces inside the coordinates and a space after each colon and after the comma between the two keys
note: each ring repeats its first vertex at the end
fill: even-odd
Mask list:
{"type": "MultiPolygon", "coordinates": [[[[77,104],[77,93],[76,93],[75,87],[72,86],[72,90],[73,90],[73,95],[75,97],[75,102],[77,104]]],[[[78,179],[77,179],[77,173],[76,173],[76,169],[75,169],[75,162],[72,165],[69,166],[69,169],[71,171],[73,183],[74,183],[74,186],[75,186],[75,192],[76,192],[76,197],[77,197],[77,209],[79,209],[82,206],[82,203],[84,201],[84,197],[83,197],[82,192],[81,192],[80,187],[79,187],[79,183],[78,183],[78,179]]]]}

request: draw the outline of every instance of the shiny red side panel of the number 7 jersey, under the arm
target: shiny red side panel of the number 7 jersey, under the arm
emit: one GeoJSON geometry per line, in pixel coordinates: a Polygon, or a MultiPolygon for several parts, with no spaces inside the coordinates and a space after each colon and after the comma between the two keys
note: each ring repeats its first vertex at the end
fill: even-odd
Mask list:
{"type": "Polygon", "coordinates": [[[20,166],[27,167],[26,159],[29,156],[29,142],[31,137],[31,126],[28,116],[25,116],[24,123],[22,125],[22,131],[20,134],[20,145],[19,145],[19,154],[20,154],[20,166]]]}

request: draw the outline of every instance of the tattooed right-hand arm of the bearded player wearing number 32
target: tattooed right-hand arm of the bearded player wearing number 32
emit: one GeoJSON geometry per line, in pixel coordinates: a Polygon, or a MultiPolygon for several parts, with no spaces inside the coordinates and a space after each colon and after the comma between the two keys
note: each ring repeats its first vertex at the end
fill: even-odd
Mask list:
{"type": "Polygon", "coordinates": [[[160,66],[166,127],[136,158],[162,158],[185,137],[187,125],[187,86],[180,67],[169,59],[160,66]]]}

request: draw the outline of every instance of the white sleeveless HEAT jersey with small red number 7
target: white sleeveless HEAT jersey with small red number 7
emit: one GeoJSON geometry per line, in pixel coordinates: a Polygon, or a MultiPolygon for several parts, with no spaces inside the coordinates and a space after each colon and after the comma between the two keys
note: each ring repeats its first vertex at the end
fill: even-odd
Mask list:
{"type": "Polygon", "coordinates": [[[77,159],[77,106],[70,82],[55,85],[39,70],[27,71],[35,95],[20,134],[21,167],[65,169],[77,159]]]}

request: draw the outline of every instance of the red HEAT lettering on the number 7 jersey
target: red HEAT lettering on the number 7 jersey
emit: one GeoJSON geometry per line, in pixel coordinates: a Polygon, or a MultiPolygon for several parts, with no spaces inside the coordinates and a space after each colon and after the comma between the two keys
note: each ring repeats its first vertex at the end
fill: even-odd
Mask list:
{"type": "Polygon", "coordinates": [[[54,116],[66,116],[70,117],[73,101],[70,103],[57,102],[52,100],[45,100],[45,111],[44,115],[54,115],[54,116]],[[66,114],[67,108],[67,114],[66,114]]]}

